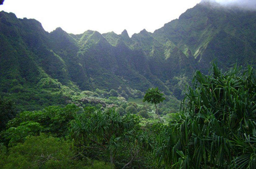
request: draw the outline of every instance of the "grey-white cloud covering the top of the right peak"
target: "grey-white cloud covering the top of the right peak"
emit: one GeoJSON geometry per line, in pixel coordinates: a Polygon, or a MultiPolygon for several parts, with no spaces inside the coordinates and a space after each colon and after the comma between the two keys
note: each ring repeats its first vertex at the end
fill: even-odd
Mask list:
{"type": "Polygon", "coordinates": [[[236,7],[245,10],[256,10],[255,0],[202,0],[201,2],[210,2],[211,4],[215,2],[224,7],[236,7]]]}

